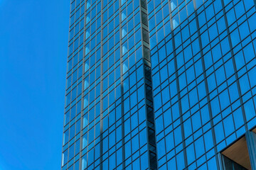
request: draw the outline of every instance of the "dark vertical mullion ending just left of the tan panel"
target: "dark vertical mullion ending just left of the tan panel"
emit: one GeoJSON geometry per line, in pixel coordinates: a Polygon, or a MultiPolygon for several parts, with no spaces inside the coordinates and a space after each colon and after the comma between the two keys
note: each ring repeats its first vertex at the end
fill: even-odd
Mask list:
{"type": "MultiPolygon", "coordinates": [[[[206,98],[207,98],[207,105],[208,105],[208,111],[209,111],[209,116],[210,116],[210,127],[211,127],[212,136],[213,136],[213,146],[216,146],[215,130],[213,128],[214,127],[213,113],[212,113],[212,109],[211,109],[211,105],[210,105],[209,88],[208,88],[208,81],[207,81],[207,75],[206,75],[206,65],[205,65],[204,56],[203,56],[203,47],[202,47],[200,26],[199,26],[199,21],[198,21],[198,13],[197,13],[197,9],[196,9],[196,0],[193,0],[193,5],[194,5],[194,9],[195,9],[195,16],[196,16],[196,27],[197,27],[198,41],[199,41],[199,46],[200,46],[200,54],[201,54],[202,67],[203,67],[203,79],[204,79],[205,87],[206,87],[206,96],[207,96],[206,98]]],[[[214,147],[214,152],[215,152],[215,155],[218,154],[217,147],[214,147]]],[[[215,159],[216,159],[217,164],[219,164],[218,157],[215,157],[215,159]]],[[[219,169],[219,167],[218,167],[218,169],[219,169]]]]}

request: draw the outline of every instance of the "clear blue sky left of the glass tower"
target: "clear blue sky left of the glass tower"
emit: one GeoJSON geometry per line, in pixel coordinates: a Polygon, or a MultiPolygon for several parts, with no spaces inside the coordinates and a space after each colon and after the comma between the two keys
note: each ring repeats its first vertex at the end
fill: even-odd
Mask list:
{"type": "Polygon", "coordinates": [[[61,164],[70,0],[0,0],[0,170],[61,164]]]}

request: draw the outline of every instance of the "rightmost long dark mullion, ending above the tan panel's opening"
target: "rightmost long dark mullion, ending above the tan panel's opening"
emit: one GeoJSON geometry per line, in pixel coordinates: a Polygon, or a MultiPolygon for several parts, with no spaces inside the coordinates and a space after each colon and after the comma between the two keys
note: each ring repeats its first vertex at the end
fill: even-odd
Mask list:
{"type": "MultiPolygon", "coordinates": [[[[231,3],[233,3],[233,2],[231,2],[231,3]]],[[[225,26],[227,28],[228,42],[229,42],[229,45],[230,45],[230,53],[231,53],[231,58],[232,58],[233,67],[234,67],[234,71],[235,71],[235,82],[236,82],[237,87],[238,87],[238,95],[239,95],[240,105],[241,105],[241,108],[242,108],[242,117],[243,117],[244,124],[245,124],[245,130],[247,131],[248,130],[248,126],[247,126],[246,117],[245,117],[245,107],[243,106],[240,82],[238,80],[238,69],[237,69],[237,67],[235,65],[235,57],[234,57],[234,52],[233,52],[233,47],[232,47],[232,41],[231,41],[231,38],[230,38],[230,30],[228,28],[228,18],[227,18],[227,15],[226,15],[225,5],[224,5],[224,1],[223,0],[221,0],[221,4],[223,6],[223,13],[224,13],[224,18],[225,18],[225,26]]]]}

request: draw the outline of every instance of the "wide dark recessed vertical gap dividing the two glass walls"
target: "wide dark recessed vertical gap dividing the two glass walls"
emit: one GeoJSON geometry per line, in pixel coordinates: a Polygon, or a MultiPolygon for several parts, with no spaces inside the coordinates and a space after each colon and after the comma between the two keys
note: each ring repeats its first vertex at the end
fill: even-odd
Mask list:
{"type": "Polygon", "coordinates": [[[152,93],[151,79],[151,60],[149,50],[149,18],[146,8],[146,0],[140,1],[140,13],[142,24],[142,56],[144,67],[144,88],[145,88],[145,103],[146,103],[146,129],[147,141],[149,150],[149,169],[158,169],[157,154],[156,154],[156,134],[154,123],[154,103],[152,93]]]}

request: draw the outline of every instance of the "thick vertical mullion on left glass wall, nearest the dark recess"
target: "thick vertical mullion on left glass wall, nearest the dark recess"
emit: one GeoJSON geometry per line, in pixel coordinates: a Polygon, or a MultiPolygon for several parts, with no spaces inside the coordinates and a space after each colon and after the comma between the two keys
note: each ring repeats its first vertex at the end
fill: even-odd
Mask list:
{"type": "Polygon", "coordinates": [[[121,116],[122,116],[122,169],[125,169],[125,150],[124,150],[124,77],[122,65],[122,8],[121,0],[119,0],[119,51],[120,51],[120,79],[121,79],[121,116]]]}

